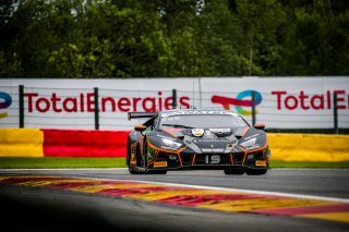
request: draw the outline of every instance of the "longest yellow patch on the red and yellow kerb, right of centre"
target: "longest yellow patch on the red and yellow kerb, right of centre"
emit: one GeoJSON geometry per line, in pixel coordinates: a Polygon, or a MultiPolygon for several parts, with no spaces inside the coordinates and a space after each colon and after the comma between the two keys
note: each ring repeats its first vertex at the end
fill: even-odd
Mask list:
{"type": "Polygon", "coordinates": [[[209,202],[197,205],[201,208],[218,209],[224,211],[250,211],[254,209],[272,209],[282,207],[300,207],[300,206],[316,206],[316,205],[333,205],[334,203],[311,200],[311,199],[242,199],[242,200],[225,200],[209,202]]]}

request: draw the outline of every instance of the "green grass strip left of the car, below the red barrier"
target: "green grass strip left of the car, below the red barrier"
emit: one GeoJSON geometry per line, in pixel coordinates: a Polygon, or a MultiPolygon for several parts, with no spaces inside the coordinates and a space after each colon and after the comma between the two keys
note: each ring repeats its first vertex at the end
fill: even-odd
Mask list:
{"type": "Polygon", "coordinates": [[[0,169],[125,168],[125,158],[1,157],[0,169]]]}

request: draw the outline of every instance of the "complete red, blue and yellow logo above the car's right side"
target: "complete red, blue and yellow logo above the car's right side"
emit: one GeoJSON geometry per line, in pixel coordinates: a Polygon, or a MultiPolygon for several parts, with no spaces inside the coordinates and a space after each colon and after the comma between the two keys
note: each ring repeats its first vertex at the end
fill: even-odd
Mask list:
{"type": "MultiPolygon", "coordinates": [[[[252,115],[251,110],[246,110],[243,107],[252,108],[252,93],[255,96],[255,106],[262,102],[261,93],[252,89],[248,89],[238,94],[237,98],[224,97],[214,95],[210,100],[213,103],[220,103],[225,110],[230,110],[230,106],[234,106],[237,111],[243,115],[252,115]],[[246,99],[249,98],[249,99],[246,99]]],[[[257,113],[257,111],[255,111],[257,113]]]]}

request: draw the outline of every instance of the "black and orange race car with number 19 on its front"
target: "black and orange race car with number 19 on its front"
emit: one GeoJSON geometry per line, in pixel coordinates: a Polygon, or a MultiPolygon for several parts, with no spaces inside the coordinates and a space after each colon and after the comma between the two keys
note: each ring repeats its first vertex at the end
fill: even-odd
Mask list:
{"type": "Polygon", "coordinates": [[[129,112],[148,118],[128,138],[127,164],[132,174],[169,170],[214,169],[226,174],[265,174],[270,151],[264,124],[250,126],[226,110],[129,112]]]}

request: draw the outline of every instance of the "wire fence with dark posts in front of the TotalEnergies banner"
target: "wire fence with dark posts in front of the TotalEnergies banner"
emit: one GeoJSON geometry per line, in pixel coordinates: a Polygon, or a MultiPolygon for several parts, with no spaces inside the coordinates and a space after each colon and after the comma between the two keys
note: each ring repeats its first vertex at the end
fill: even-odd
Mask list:
{"type": "Polygon", "coordinates": [[[132,130],[144,120],[128,121],[130,111],[215,108],[240,113],[251,124],[275,129],[349,129],[349,95],[345,90],[189,91],[108,88],[1,86],[0,127],[132,130]],[[230,97],[229,97],[230,96],[230,97]],[[236,97],[231,97],[236,96],[236,97]],[[348,101],[348,102],[347,102],[348,101]]]}

